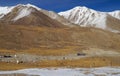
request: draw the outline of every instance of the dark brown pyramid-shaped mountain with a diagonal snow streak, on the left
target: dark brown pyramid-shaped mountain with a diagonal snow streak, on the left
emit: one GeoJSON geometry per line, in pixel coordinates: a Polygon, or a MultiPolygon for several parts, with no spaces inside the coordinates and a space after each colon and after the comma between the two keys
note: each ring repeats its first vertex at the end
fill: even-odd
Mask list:
{"type": "Polygon", "coordinates": [[[48,16],[49,11],[45,11],[48,13],[45,14],[43,9],[34,5],[19,4],[11,8],[7,8],[7,10],[10,10],[7,13],[1,12],[1,15],[4,14],[4,16],[1,16],[0,22],[12,25],[63,26],[62,23],[52,18],[54,16],[48,16]]]}

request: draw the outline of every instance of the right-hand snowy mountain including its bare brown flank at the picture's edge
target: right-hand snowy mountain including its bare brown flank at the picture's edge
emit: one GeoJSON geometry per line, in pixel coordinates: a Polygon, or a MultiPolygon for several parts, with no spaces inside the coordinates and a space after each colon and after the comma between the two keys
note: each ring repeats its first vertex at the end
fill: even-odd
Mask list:
{"type": "MultiPolygon", "coordinates": [[[[68,19],[70,22],[80,26],[92,26],[108,30],[118,30],[114,26],[120,27],[120,11],[100,12],[87,7],[75,7],[71,10],[60,12],[59,15],[68,19]],[[111,21],[113,20],[113,24],[111,21]],[[109,23],[108,23],[109,22],[109,23]],[[109,26],[109,24],[111,26],[109,26]]],[[[120,28],[119,28],[120,30],[120,28]]]]}

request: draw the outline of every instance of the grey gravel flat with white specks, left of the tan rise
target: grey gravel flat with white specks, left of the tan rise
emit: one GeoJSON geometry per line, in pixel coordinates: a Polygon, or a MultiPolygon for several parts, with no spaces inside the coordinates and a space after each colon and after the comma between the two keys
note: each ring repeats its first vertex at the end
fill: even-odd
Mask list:
{"type": "Polygon", "coordinates": [[[36,62],[41,60],[65,60],[65,59],[80,59],[87,56],[78,56],[77,54],[69,54],[65,56],[38,56],[31,54],[16,54],[11,55],[11,57],[5,58],[1,57],[0,61],[2,62],[36,62]]]}

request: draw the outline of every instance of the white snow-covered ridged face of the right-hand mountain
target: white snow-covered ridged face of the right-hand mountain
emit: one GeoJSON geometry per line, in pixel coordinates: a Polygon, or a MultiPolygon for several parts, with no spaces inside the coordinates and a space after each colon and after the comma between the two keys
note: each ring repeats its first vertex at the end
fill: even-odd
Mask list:
{"type": "Polygon", "coordinates": [[[87,7],[77,6],[71,10],[60,12],[59,15],[64,16],[70,22],[81,26],[96,26],[106,28],[106,14],[99,13],[87,7]]]}

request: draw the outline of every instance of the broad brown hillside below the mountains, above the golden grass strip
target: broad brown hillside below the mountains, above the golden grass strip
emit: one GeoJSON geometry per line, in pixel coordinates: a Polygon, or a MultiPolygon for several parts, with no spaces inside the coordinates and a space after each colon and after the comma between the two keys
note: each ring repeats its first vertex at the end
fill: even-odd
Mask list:
{"type": "Polygon", "coordinates": [[[120,35],[96,28],[0,26],[0,49],[30,48],[120,50],[120,35]]]}

